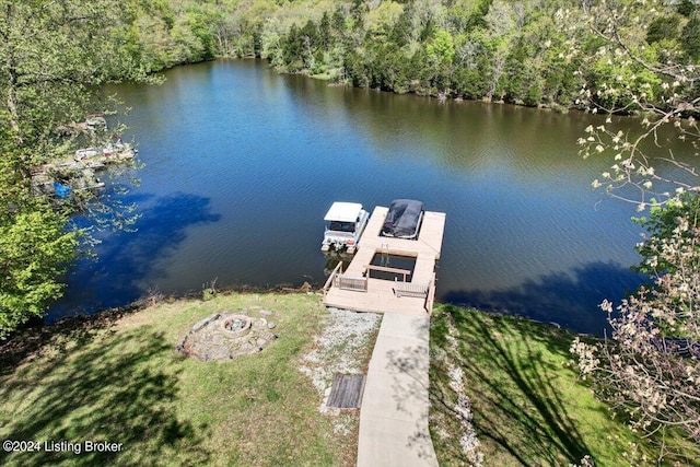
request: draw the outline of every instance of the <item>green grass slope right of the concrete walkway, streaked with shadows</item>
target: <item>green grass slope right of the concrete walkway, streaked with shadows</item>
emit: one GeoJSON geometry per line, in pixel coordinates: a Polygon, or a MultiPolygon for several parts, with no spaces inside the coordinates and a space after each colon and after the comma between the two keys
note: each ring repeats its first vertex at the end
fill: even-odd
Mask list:
{"type": "MultiPolygon", "coordinates": [[[[567,466],[585,455],[596,466],[655,465],[653,446],[614,419],[579,381],[569,354],[573,338],[550,325],[438,305],[431,327],[431,434],[441,465],[469,464],[458,444],[450,364],[464,371],[486,466],[567,466]]],[[[697,452],[687,454],[698,458],[697,452]]],[[[665,459],[676,462],[689,463],[665,459]]]]}

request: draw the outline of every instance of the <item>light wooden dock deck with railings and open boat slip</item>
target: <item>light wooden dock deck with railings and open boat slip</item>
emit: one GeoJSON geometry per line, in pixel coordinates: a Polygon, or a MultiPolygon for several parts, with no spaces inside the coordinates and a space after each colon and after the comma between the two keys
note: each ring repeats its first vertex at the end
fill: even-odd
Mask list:
{"type": "MultiPolygon", "coordinates": [[[[343,310],[425,315],[435,296],[435,262],[440,259],[445,213],[427,211],[417,240],[381,236],[388,208],[376,207],[350,265],[339,264],[324,287],[324,304],[343,310]],[[416,258],[410,282],[371,278],[376,254],[416,258]]],[[[399,272],[400,275],[400,272],[399,272]]]]}

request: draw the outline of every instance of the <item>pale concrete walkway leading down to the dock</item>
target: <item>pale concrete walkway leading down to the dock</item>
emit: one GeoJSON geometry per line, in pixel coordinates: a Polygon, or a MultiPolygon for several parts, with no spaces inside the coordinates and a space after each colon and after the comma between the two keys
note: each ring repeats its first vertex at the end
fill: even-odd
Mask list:
{"type": "Polygon", "coordinates": [[[436,466],[428,431],[430,316],[387,313],[360,410],[359,467],[436,466]]]}

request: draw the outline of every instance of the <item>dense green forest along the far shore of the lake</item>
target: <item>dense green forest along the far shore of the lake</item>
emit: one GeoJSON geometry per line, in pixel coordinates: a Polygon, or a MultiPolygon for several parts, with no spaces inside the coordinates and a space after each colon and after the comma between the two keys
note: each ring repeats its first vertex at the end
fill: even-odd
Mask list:
{"type": "Polygon", "coordinates": [[[397,93],[571,108],[593,91],[602,108],[620,108],[641,90],[662,103],[665,77],[649,66],[699,62],[698,3],[598,3],[618,12],[615,34],[634,60],[607,47],[588,2],[571,0],[154,0],[133,22],[130,49],[148,71],[258,57],[397,93]]]}

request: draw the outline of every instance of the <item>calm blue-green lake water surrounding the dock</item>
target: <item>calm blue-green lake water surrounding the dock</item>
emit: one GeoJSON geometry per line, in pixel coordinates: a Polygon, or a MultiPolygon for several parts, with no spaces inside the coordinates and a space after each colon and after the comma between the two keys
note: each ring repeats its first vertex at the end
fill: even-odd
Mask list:
{"type": "MultiPolygon", "coordinates": [[[[591,188],[595,116],[329,86],[221,60],[114,86],[145,164],[138,232],[103,234],[48,322],[149,291],[323,284],[323,217],[413,198],[447,213],[438,300],[599,332],[640,278],[633,207],[591,188]]],[[[631,122],[630,122],[631,125],[631,122]]]]}

